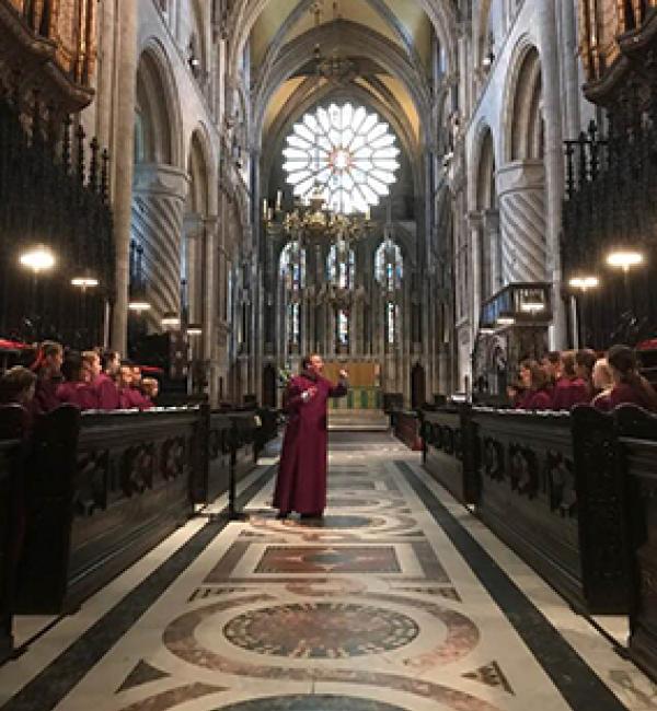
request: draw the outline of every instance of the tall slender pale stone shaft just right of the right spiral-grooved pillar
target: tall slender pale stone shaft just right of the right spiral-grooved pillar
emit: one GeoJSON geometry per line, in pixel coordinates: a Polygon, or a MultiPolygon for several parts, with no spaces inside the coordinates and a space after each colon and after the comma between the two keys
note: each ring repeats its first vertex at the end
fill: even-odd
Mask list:
{"type": "Polygon", "coordinates": [[[552,282],[553,326],[550,348],[566,345],[566,313],[561,295],[562,265],[560,235],[564,199],[564,152],[562,106],[558,81],[558,47],[556,44],[556,7],[554,0],[538,0],[538,36],[541,44],[543,78],[543,119],[545,125],[545,186],[546,186],[546,271],[552,282]]]}

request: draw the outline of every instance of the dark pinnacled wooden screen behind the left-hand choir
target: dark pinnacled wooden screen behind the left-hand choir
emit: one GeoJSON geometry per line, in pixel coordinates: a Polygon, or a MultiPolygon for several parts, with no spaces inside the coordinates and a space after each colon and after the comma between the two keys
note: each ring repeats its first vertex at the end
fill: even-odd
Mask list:
{"type": "Polygon", "coordinates": [[[15,100],[0,96],[0,334],[88,348],[102,342],[105,302],[114,300],[113,222],[106,154],[99,161],[92,141],[87,161],[82,127],[74,142],[71,130],[69,118],[46,124],[38,110],[26,120],[15,100]],[[37,244],[57,260],[38,277],[19,264],[37,244]],[[71,284],[83,276],[100,285],[71,284]]]}

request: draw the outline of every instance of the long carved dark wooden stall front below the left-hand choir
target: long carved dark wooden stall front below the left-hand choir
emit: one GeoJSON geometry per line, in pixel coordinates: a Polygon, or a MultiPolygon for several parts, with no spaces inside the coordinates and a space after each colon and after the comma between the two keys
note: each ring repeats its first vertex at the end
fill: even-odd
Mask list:
{"type": "Polygon", "coordinates": [[[26,465],[27,533],[18,609],[73,609],[191,514],[196,410],[37,422],[26,465]]]}

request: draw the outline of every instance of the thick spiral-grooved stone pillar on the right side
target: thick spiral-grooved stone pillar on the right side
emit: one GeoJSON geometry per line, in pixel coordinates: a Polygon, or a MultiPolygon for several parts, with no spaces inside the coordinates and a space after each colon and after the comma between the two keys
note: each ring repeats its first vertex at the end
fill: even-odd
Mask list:
{"type": "Polygon", "coordinates": [[[542,161],[517,161],[497,172],[505,284],[545,281],[545,168],[542,161]]]}

